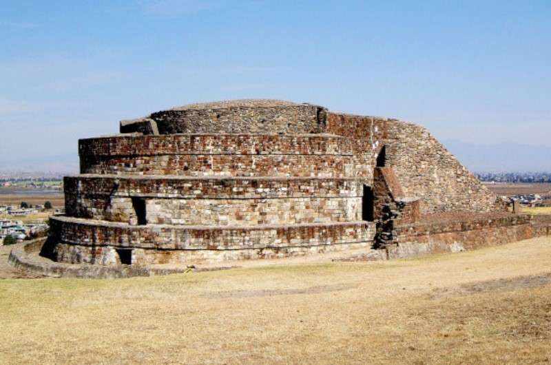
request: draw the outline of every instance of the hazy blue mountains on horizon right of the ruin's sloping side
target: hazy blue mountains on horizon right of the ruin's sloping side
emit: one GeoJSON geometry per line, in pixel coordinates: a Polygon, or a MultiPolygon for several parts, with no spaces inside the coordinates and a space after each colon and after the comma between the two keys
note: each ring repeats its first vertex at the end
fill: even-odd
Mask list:
{"type": "Polygon", "coordinates": [[[551,171],[551,147],[519,143],[477,145],[459,140],[444,140],[443,144],[470,171],[551,171]]]}

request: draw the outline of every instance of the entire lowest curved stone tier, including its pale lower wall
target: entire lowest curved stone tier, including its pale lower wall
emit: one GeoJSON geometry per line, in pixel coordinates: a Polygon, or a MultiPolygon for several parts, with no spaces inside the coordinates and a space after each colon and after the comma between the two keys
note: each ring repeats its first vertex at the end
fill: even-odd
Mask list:
{"type": "Polygon", "coordinates": [[[373,223],[364,221],[253,227],[132,226],[56,216],[50,222],[54,232],[50,239],[58,242],[53,252],[58,261],[97,264],[120,262],[116,249],[132,249],[133,262],[149,264],[189,263],[192,258],[225,260],[273,258],[285,253],[302,255],[368,247],[375,231],[373,223]]]}

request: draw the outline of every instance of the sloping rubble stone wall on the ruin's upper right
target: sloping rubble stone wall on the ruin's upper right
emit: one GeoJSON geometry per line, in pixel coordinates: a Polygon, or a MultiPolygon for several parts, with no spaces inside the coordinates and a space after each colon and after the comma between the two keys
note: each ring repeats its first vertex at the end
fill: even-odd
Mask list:
{"type": "Polygon", "coordinates": [[[375,167],[385,147],[405,196],[422,200],[424,213],[503,210],[492,194],[424,127],[394,119],[329,113],[326,132],[355,138],[375,167]],[[369,156],[368,152],[374,154],[369,156]]]}

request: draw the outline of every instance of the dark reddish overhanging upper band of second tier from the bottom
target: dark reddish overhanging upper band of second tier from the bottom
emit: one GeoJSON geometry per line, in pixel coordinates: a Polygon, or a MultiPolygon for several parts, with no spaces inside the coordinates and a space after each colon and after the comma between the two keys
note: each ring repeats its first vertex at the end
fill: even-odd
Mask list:
{"type": "Polygon", "coordinates": [[[181,199],[343,198],[362,196],[359,178],[118,176],[63,179],[65,196],[110,195],[181,199]]]}

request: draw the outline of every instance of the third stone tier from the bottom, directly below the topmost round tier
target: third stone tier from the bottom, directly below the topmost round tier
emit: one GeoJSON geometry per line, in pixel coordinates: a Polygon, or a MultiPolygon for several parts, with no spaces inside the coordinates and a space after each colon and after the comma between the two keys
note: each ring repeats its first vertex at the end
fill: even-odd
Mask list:
{"type": "Polygon", "coordinates": [[[332,135],[115,136],[81,140],[81,173],[177,176],[369,176],[332,135]]]}

